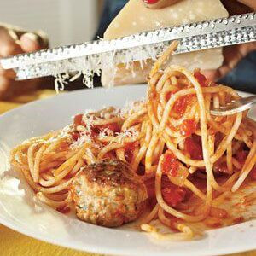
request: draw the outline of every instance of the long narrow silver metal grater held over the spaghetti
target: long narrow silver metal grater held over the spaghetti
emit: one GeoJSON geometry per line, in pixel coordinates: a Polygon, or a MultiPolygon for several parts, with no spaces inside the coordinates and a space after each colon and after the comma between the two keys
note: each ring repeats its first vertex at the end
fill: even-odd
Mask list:
{"type": "Polygon", "coordinates": [[[180,44],[174,54],[256,41],[256,13],[141,32],[114,40],[44,49],[1,61],[13,68],[16,79],[32,79],[61,73],[98,73],[118,63],[155,59],[172,40],[180,44]]]}

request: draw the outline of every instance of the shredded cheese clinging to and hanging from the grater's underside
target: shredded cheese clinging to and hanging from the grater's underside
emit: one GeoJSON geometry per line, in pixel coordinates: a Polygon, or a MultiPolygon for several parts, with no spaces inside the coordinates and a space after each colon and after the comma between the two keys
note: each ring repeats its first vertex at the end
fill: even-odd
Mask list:
{"type": "MultiPolygon", "coordinates": [[[[125,54],[119,54],[119,52],[106,52],[101,55],[88,55],[85,57],[78,57],[68,60],[62,60],[58,63],[42,63],[38,65],[40,69],[50,72],[55,76],[55,90],[59,93],[65,89],[65,85],[69,82],[73,82],[79,77],[83,77],[83,84],[88,88],[93,88],[94,74],[100,75],[102,70],[107,71],[109,80],[107,87],[112,87],[114,84],[114,77],[118,72],[118,64],[125,64],[126,68],[133,68],[132,62],[139,60],[141,67],[146,64],[146,60],[156,60],[162,49],[166,49],[168,44],[162,43],[161,48],[157,48],[154,45],[144,45],[143,48],[135,47],[126,50],[125,54]],[[131,57],[132,56],[132,57],[131,57]]],[[[29,70],[24,70],[25,73],[29,73],[29,70]]],[[[133,72],[133,76],[136,73],[133,72]]]]}

